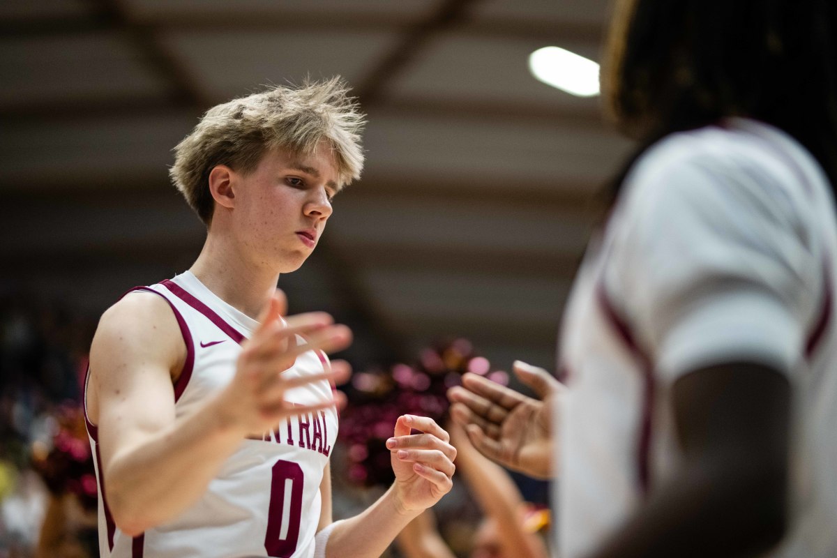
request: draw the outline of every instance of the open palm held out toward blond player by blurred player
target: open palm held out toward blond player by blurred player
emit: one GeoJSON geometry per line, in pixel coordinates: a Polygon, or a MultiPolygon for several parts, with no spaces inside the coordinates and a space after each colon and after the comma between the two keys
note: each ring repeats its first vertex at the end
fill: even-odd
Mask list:
{"type": "Polygon", "coordinates": [[[552,476],[552,407],[564,387],[549,372],[521,361],[515,375],[537,399],[476,374],[465,374],[461,387],[448,390],[450,414],[465,427],[470,442],[485,457],[537,479],[552,476]]]}

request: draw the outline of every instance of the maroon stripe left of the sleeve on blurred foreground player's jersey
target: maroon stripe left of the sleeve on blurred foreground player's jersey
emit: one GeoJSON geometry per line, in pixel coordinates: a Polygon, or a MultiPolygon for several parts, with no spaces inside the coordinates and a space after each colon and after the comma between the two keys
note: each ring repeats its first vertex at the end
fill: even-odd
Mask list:
{"type": "Polygon", "coordinates": [[[628,323],[614,309],[614,305],[610,303],[608,293],[604,289],[604,284],[600,281],[596,287],[596,298],[599,305],[602,307],[604,317],[614,326],[614,330],[619,334],[619,337],[624,342],[624,345],[639,361],[640,368],[643,374],[643,402],[642,402],[642,417],[639,422],[639,445],[637,448],[637,468],[639,471],[639,486],[642,488],[644,494],[648,494],[651,485],[651,433],[652,433],[652,418],[654,410],[654,394],[656,391],[654,381],[654,366],[650,357],[637,344],[636,338],[631,331],[628,323]]]}

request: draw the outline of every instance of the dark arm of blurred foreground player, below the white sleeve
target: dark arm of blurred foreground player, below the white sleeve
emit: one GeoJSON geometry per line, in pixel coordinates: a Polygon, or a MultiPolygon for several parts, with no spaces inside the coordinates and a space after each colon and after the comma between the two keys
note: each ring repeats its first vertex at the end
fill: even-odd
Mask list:
{"type": "Polygon", "coordinates": [[[788,379],[754,363],[712,366],[680,377],[671,402],[679,470],[589,558],[760,555],[787,523],[788,379]]]}

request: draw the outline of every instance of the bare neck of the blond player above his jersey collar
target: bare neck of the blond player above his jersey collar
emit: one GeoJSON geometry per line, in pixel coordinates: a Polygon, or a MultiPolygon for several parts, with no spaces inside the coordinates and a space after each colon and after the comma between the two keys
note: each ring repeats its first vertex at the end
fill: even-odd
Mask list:
{"type": "Polygon", "coordinates": [[[268,304],[279,281],[275,269],[250,259],[231,235],[214,235],[212,231],[189,271],[218,298],[254,320],[268,304]]]}

